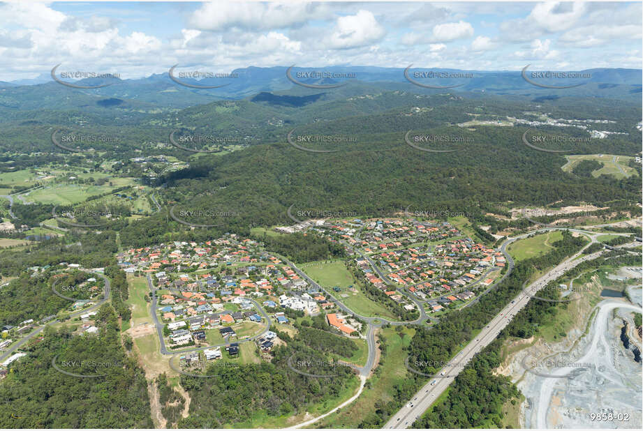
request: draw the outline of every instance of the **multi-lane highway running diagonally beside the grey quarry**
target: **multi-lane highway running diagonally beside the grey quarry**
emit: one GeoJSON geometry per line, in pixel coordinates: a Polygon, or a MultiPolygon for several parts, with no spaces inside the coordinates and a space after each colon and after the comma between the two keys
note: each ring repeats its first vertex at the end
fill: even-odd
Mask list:
{"type": "MultiPolygon", "coordinates": [[[[519,237],[507,241],[506,245],[515,241],[515,239],[518,239],[519,237]]],[[[594,241],[591,241],[589,244],[593,242],[594,241]]],[[[589,246],[589,244],[586,245],[586,247],[589,246]]],[[[505,245],[505,243],[503,243],[503,245],[505,245]]],[[[482,331],[480,331],[474,340],[469,342],[468,345],[459,352],[459,354],[452,358],[448,365],[442,368],[436,376],[429,378],[427,384],[422,386],[420,391],[417,391],[417,393],[413,395],[411,401],[405,404],[397,414],[394,414],[394,416],[390,418],[384,428],[409,428],[413,425],[417,418],[420,418],[420,416],[424,414],[424,411],[429,408],[431,403],[449,387],[459,372],[464,369],[466,363],[471,361],[471,358],[473,358],[475,354],[478,354],[479,351],[489,345],[489,343],[498,336],[498,333],[500,333],[500,331],[502,331],[503,328],[511,322],[511,318],[515,316],[517,312],[522,310],[527,303],[529,303],[533,294],[545,287],[549,281],[556,280],[556,278],[559,278],[577,264],[585,262],[586,260],[596,259],[596,257],[600,256],[603,251],[604,250],[600,250],[591,255],[584,255],[575,260],[576,257],[581,255],[581,252],[579,251],[523,289],[520,294],[506,305],[487,326],[485,326],[485,328],[482,328],[482,331]],[[444,373],[444,375],[442,373],[444,373]]]]}

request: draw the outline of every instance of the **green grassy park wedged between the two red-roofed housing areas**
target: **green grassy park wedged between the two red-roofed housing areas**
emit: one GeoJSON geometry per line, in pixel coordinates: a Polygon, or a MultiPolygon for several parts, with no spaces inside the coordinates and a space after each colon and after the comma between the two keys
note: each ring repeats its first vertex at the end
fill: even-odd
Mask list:
{"type": "Polygon", "coordinates": [[[333,295],[337,296],[341,302],[357,312],[357,314],[369,317],[385,317],[392,320],[397,319],[387,308],[371,301],[364,292],[360,291],[360,288],[354,284],[353,275],[348,272],[343,262],[311,262],[302,265],[301,269],[330,292],[332,292],[332,287],[341,287],[343,290],[341,292],[332,292],[333,295]],[[355,292],[347,289],[350,285],[353,285],[355,292]]]}

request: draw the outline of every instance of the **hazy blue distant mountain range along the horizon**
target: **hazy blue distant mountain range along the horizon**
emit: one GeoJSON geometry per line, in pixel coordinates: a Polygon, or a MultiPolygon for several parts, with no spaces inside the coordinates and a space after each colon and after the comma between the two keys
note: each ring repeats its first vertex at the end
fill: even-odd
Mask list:
{"type": "MultiPolygon", "coordinates": [[[[186,70],[186,69],[181,69],[186,70]]],[[[298,68],[293,67],[291,77],[293,80],[304,85],[297,85],[286,77],[287,67],[272,68],[240,68],[232,70],[232,78],[208,77],[202,80],[191,78],[179,78],[179,72],[175,71],[174,76],[180,82],[187,84],[183,86],[173,81],[168,73],[154,74],[149,77],[131,80],[120,80],[118,78],[98,79],[90,78],[74,81],[73,84],[95,86],[98,84],[110,84],[98,89],[71,89],[51,79],[50,73],[43,73],[31,80],[17,80],[13,82],[0,82],[0,96],[4,96],[10,103],[2,103],[0,106],[17,107],[18,109],[29,109],[20,107],[20,97],[14,92],[25,96],[31,91],[24,91],[25,86],[38,86],[38,93],[48,89],[66,89],[69,91],[80,91],[91,96],[103,96],[109,98],[123,98],[135,100],[139,103],[162,105],[163,107],[188,107],[201,103],[210,103],[222,99],[243,99],[256,97],[260,93],[274,93],[288,91],[289,94],[297,96],[310,96],[314,93],[332,92],[334,85],[344,84],[344,87],[372,87],[389,91],[412,91],[414,93],[441,93],[468,92],[468,93],[494,93],[499,95],[526,96],[534,100],[542,98],[548,100],[561,97],[598,97],[616,98],[628,100],[640,100],[642,90],[643,71],[638,69],[622,68],[596,68],[579,70],[577,73],[587,75],[587,78],[574,79],[545,79],[532,77],[537,70],[527,70],[526,75],[533,82],[548,86],[566,86],[582,84],[573,88],[554,89],[536,86],[524,80],[521,71],[480,71],[460,69],[427,69],[411,68],[408,70],[408,77],[411,80],[429,86],[444,86],[448,89],[428,89],[413,84],[406,79],[404,68],[380,68],[371,66],[332,66],[324,68],[298,68]],[[323,77],[306,78],[302,73],[316,71],[324,73],[323,77]],[[466,77],[452,78],[427,78],[421,73],[436,73],[441,75],[464,75],[466,77]],[[334,79],[327,77],[337,74],[353,74],[348,79],[334,79]],[[224,85],[225,86],[221,86],[224,85]],[[218,86],[214,89],[199,89],[194,86],[218,86]],[[306,88],[310,86],[311,88],[306,88]],[[13,100],[16,100],[16,103],[13,100]]],[[[57,92],[54,90],[54,92],[57,92]]],[[[67,93],[67,91],[65,91],[67,93]]],[[[38,100],[41,101],[42,99],[38,100]]],[[[26,100],[22,100],[26,102],[26,100]]],[[[34,100],[36,102],[36,100],[34,100]]],[[[287,102],[286,102],[287,103],[287,102]]],[[[27,105],[30,105],[27,103],[27,105]]],[[[42,106],[42,105],[40,105],[42,106]]]]}

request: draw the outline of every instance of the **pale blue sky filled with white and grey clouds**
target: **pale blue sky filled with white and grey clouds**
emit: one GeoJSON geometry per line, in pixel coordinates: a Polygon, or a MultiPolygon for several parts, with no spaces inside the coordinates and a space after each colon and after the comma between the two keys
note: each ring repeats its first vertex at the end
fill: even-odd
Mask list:
{"type": "Polygon", "coordinates": [[[0,80],[66,70],[642,68],[642,3],[0,3],[0,80]]]}

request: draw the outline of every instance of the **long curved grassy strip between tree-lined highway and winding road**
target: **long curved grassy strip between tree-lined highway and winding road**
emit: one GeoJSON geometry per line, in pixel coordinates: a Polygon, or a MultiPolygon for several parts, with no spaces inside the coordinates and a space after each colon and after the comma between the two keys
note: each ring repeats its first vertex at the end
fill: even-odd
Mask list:
{"type": "Polygon", "coordinates": [[[404,348],[411,343],[415,329],[400,327],[380,331],[386,339],[387,351],[380,359],[380,370],[369,379],[370,388],[364,389],[352,404],[311,425],[311,428],[359,428],[364,418],[374,414],[378,404],[390,402],[397,396],[394,386],[404,382],[409,373],[404,365],[407,356],[404,348]],[[398,335],[398,331],[404,332],[404,338],[398,335]]]}

